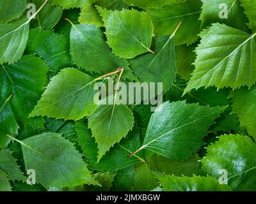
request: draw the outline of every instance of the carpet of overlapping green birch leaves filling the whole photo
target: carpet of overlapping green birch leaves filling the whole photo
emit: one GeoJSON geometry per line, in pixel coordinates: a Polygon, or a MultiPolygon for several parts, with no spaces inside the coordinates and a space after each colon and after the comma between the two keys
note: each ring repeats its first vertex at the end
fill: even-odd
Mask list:
{"type": "Polygon", "coordinates": [[[28,3],[0,0],[0,191],[256,190],[255,1],[28,3]],[[113,71],[161,111],[93,104],[113,71]]]}

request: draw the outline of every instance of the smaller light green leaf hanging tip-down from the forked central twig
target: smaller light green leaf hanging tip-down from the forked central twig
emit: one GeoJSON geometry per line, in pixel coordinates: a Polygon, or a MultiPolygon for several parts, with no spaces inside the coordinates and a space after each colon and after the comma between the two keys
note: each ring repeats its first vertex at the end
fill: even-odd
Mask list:
{"type": "Polygon", "coordinates": [[[110,147],[127,135],[134,124],[131,110],[123,104],[99,105],[88,117],[88,121],[88,126],[98,144],[98,161],[110,147]]]}

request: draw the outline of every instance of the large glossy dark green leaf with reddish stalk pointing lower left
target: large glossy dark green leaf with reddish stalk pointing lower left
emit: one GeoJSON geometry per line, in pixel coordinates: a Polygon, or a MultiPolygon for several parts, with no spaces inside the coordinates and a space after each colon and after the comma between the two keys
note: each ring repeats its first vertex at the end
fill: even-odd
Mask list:
{"type": "Polygon", "coordinates": [[[224,109],[185,101],[165,102],[151,116],[138,150],[148,149],[169,159],[188,159],[204,145],[202,139],[209,132],[207,129],[224,109]]]}

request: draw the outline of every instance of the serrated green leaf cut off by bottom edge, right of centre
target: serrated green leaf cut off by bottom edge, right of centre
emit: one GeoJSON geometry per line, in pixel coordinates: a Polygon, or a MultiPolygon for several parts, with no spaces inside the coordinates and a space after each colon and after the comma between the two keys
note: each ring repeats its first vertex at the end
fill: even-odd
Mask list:
{"type": "Polygon", "coordinates": [[[164,191],[230,191],[230,187],[219,184],[213,177],[175,177],[156,175],[164,191]]]}

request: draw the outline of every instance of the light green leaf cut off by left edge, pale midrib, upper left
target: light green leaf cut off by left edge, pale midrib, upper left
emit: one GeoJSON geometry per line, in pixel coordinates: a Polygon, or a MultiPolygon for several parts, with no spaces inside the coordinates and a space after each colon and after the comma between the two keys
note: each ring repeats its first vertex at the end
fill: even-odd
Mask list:
{"type": "Polygon", "coordinates": [[[28,41],[29,20],[26,17],[0,24],[0,64],[17,62],[28,41]]]}

